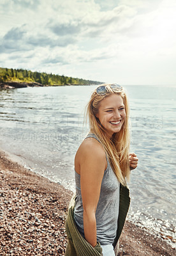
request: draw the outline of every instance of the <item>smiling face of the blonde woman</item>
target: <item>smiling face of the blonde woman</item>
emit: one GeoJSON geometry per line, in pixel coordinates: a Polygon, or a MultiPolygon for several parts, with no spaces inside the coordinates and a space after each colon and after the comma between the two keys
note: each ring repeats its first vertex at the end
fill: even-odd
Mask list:
{"type": "Polygon", "coordinates": [[[109,138],[112,137],[114,132],[121,131],[126,118],[126,111],[124,109],[122,97],[113,93],[101,100],[96,117],[105,128],[106,134],[109,138]]]}

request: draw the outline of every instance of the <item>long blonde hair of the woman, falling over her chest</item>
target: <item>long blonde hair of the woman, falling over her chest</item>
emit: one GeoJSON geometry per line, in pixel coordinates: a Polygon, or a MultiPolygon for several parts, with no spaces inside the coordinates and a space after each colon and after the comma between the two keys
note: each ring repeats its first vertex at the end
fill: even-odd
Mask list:
{"type": "Polygon", "coordinates": [[[110,161],[112,169],[117,176],[119,182],[126,186],[126,181],[129,181],[129,104],[128,98],[124,89],[121,92],[115,92],[110,87],[111,84],[101,84],[101,86],[106,86],[106,94],[98,95],[96,89],[92,92],[91,99],[87,103],[85,108],[85,120],[89,118],[90,132],[94,133],[99,141],[101,141],[103,148],[105,149],[106,155],[110,161]],[[111,140],[106,136],[106,131],[104,127],[96,118],[96,114],[99,110],[99,104],[101,100],[112,95],[113,93],[120,95],[122,97],[124,108],[126,111],[126,118],[124,124],[122,125],[121,131],[115,132],[112,135],[111,140]]]}

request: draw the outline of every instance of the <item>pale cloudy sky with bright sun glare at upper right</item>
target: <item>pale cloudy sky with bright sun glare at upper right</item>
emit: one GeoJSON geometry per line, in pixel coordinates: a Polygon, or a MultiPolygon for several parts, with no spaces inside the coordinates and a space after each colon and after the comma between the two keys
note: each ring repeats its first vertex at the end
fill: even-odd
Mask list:
{"type": "Polygon", "coordinates": [[[1,0],[0,67],[176,86],[175,0],[1,0]]]}

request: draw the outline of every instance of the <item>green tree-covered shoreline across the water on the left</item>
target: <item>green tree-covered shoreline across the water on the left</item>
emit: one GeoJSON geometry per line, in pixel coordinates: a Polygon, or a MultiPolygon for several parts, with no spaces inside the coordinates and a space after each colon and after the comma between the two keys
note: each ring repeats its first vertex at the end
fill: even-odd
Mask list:
{"type": "Polygon", "coordinates": [[[82,78],[47,74],[45,72],[32,72],[26,69],[0,68],[0,83],[40,83],[44,86],[70,85],[70,84],[100,84],[97,81],[82,78]]]}

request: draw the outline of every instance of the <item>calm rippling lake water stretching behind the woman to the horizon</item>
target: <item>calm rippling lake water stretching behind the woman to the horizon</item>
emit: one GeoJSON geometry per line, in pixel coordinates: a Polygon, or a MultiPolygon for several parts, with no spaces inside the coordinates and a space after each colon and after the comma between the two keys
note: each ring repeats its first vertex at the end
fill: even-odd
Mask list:
{"type": "MultiPolygon", "coordinates": [[[[74,190],[75,152],[88,131],[82,125],[84,107],[95,87],[1,90],[1,148],[19,156],[34,172],[74,190]]],[[[129,218],[173,237],[176,88],[125,88],[131,109],[131,152],[140,159],[131,173],[129,218]]]]}

